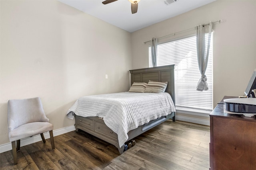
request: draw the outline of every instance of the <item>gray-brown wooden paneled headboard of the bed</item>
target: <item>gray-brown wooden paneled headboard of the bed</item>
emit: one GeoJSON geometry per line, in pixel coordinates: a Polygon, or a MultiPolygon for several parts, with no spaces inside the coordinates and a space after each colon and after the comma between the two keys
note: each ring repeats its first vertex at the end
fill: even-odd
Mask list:
{"type": "Polygon", "coordinates": [[[133,84],[133,82],[148,83],[149,80],[168,82],[165,92],[168,92],[172,96],[172,100],[175,104],[174,65],[140,68],[129,71],[131,74],[131,84],[133,84]]]}

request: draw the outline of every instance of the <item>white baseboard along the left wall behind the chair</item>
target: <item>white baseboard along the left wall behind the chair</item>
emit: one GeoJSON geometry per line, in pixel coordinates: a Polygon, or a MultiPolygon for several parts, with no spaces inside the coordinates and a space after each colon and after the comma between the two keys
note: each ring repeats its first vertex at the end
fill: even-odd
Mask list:
{"type": "MultiPolygon", "coordinates": [[[[62,135],[64,133],[68,133],[68,132],[71,132],[71,131],[74,131],[74,130],[76,130],[76,128],[74,126],[64,127],[62,129],[54,130],[53,131],[53,136],[62,135]]],[[[50,138],[50,133],[49,132],[44,133],[44,138],[45,139],[50,138]]],[[[32,136],[32,137],[21,139],[20,140],[20,147],[23,147],[23,146],[26,146],[26,145],[29,145],[31,143],[35,143],[35,142],[38,142],[38,141],[42,141],[42,138],[41,138],[40,134],[32,136]]],[[[0,153],[6,152],[8,150],[12,150],[12,143],[6,143],[6,144],[3,144],[3,145],[0,145],[0,153]]]]}

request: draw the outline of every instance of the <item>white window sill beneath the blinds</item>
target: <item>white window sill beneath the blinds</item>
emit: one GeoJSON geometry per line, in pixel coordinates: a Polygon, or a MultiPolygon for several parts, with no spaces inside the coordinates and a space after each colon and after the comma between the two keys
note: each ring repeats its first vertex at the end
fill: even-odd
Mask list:
{"type": "Polygon", "coordinates": [[[212,110],[208,110],[208,109],[194,109],[194,108],[189,108],[189,107],[176,106],[176,112],[177,113],[189,114],[189,115],[197,115],[197,116],[209,117],[209,115],[212,112],[212,110]]]}

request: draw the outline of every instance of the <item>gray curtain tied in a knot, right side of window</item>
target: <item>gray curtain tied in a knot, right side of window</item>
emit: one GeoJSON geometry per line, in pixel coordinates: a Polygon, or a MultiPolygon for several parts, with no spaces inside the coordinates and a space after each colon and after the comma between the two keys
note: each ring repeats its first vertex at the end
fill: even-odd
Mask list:
{"type": "Polygon", "coordinates": [[[201,73],[201,78],[198,81],[196,90],[201,91],[201,92],[203,90],[208,90],[208,84],[206,82],[207,77],[205,75],[205,71],[206,71],[207,63],[208,63],[211,35],[212,35],[212,22],[211,21],[210,21],[209,26],[204,26],[202,24],[196,26],[197,61],[198,61],[198,67],[199,67],[199,70],[201,73]],[[209,29],[207,49],[205,48],[205,32],[207,31],[206,29],[209,29]]]}

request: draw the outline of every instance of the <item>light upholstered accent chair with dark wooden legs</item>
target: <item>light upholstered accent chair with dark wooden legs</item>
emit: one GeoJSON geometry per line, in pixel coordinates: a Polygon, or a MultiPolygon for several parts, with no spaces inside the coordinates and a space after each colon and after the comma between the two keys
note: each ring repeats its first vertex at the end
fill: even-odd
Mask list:
{"type": "Polygon", "coordinates": [[[8,101],[8,130],[12,142],[14,164],[17,164],[17,152],[20,150],[20,139],[41,135],[45,143],[44,132],[50,132],[52,150],[54,147],[53,125],[44,113],[40,98],[8,101]],[[17,141],[17,142],[16,142],[17,141]],[[17,146],[16,146],[17,143],[17,146]]]}

